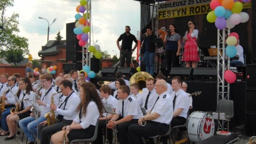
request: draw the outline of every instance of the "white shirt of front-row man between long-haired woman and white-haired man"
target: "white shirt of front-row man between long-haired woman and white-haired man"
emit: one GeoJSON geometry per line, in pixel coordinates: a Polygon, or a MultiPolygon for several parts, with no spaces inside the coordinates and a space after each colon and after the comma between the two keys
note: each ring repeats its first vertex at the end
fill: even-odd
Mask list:
{"type": "Polygon", "coordinates": [[[128,96],[126,99],[119,99],[117,103],[116,113],[122,115],[122,102],[124,101],[124,116],[133,116],[132,119],[143,117],[139,104],[136,99],[128,96]]]}

